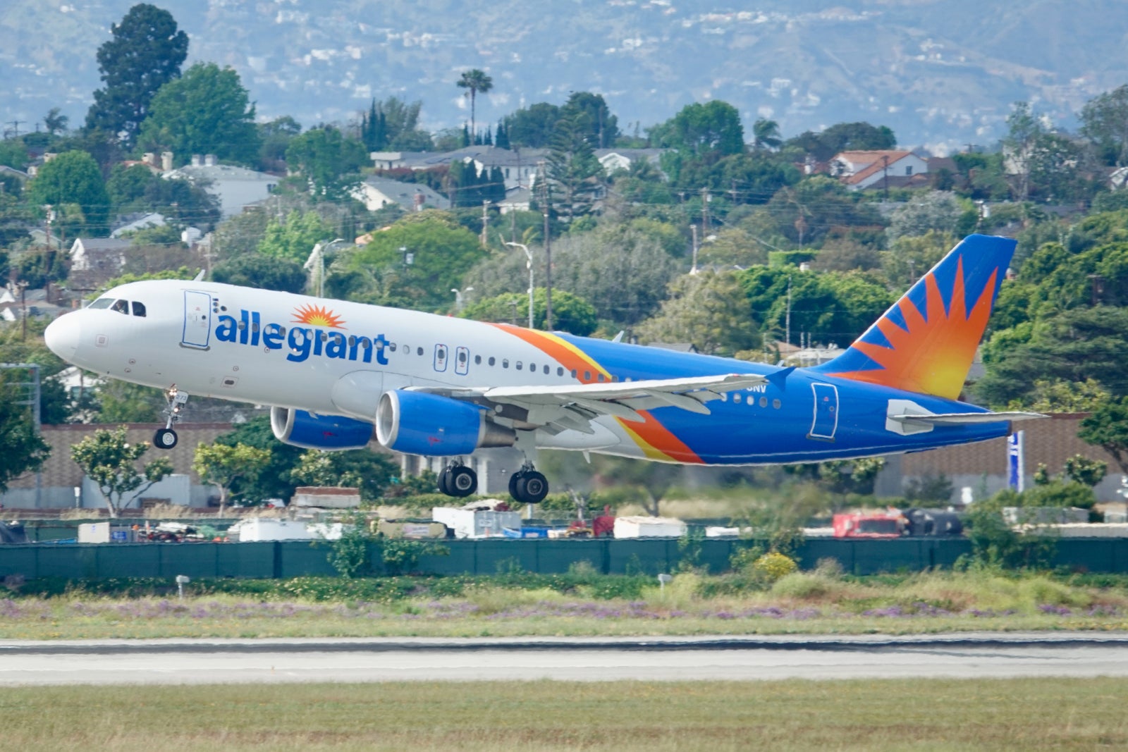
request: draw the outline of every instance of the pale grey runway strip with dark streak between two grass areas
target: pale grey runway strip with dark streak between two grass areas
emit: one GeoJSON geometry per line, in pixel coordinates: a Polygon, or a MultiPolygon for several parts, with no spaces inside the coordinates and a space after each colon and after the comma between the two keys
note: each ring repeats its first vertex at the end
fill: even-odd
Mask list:
{"type": "Polygon", "coordinates": [[[1125,632],[0,640],[0,685],[1128,676],[1125,632]]]}

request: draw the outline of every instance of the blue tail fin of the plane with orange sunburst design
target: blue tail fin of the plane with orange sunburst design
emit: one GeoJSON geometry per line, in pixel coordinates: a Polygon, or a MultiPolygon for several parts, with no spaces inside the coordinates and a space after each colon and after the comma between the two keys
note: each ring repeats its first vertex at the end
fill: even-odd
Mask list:
{"type": "Polygon", "coordinates": [[[1016,242],[970,235],[816,371],[957,399],[1016,242]]]}

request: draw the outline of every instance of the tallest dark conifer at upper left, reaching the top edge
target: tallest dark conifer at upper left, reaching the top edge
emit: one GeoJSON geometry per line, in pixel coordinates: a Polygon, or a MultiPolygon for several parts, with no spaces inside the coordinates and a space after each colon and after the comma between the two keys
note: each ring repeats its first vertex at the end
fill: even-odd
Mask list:
{"type": "Polygon", "coordinates": [[[109,33],[113,38],[98,47],[105,87],[94,92],[86,129],[123,135],[132,144],[153,95],[180,74],[188,35],[176,28],[171,14],[148,3],[130,8],[109,33]]]}

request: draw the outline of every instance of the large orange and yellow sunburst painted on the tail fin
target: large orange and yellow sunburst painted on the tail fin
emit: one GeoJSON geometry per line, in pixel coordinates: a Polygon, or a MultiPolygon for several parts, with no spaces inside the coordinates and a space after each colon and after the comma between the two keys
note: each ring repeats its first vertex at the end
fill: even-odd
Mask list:
{"type": "Polygon", "coordinates": [[[957,399],[990,317],[997,274],[997,269],[992,273],[979,299],[968,310],[961,257],[946,313],[936,277],[928,274],[925,277],[925,311],[917,310],[907,298],[900,300],[900,312],[908,329],[889,317],[882,317],[874,325],[890,346],[864,342],[864,336],[854,343],[856,350],[869,355],[881,369],[835,375],[957,399]]]}

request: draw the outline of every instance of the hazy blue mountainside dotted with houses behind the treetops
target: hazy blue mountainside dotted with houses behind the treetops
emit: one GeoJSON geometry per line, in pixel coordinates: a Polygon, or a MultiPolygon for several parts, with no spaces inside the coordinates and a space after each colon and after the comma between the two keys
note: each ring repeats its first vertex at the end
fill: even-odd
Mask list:
{"type": "MultiPolygon", "coordinates": [[[[0,118],[61,106],[80,125],[95,52],[133,0],[7,0],[0,118]]],[[[785,136],[837,122],[889,125],[902,145],[993,143],[1015,100],[1073,125],[1128,82],[1123,0],[178,0],[188,62],[233,67],[261,116],[346,122],[372,97],[423,101],[430,130],[469,115],[459,72],[493,90],[479,124],[521,105],[602,94],[633,132],[707,98],[785,136]],[[744,6],[744,7],[741,7],[744,6]]]]}

